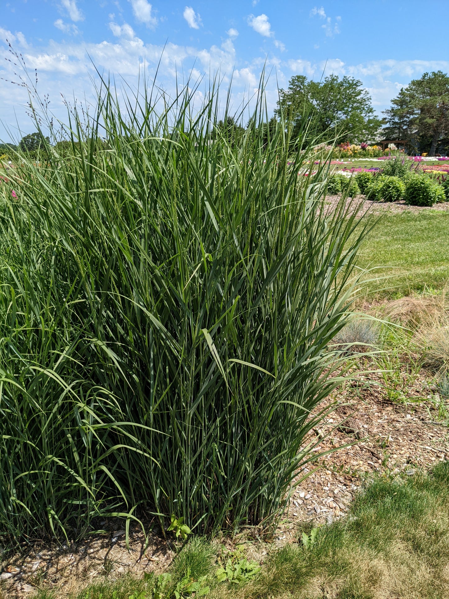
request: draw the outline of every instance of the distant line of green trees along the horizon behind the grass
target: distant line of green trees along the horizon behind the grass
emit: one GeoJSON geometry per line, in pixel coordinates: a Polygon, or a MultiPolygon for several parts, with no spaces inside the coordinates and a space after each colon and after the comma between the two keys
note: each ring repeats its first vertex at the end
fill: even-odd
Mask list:
{"type": "MultiPolygon", "coordinates": [[[[219,134],[235,146],[251,126],[266,143],[282,118],[296,143],[301,143],[301,137],[307,133],[317,140],[329,142],[335,138],[339,143],[401,140],[406,142],[409,153],[449,153],[449,77],[442,71],[426,72],[420,79],[412,80],[383,114],[383,119],[376,116],[371,96],[358,79],[329,75],[313,81],[305,75],[295,75],[289,87],[280,90],[274,116],[268,123],[259,127],[247,123],[245,128],[228,116],[217,123],[212,135],[219,134]]],[[[35,132],[25,135],[19,147],[0,144],[0,156],[9,156],[11,150],[18,148],[34,156],[42,146],[41,134],[35,132]]],[[[64,156],[71,154],[73,147],[71,141],[61,141],[55,149],[64,156]]]]}

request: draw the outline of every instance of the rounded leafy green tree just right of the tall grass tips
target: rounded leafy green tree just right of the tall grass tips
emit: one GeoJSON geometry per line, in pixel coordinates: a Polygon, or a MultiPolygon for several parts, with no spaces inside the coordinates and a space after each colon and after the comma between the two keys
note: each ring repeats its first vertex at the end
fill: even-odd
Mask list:
{"type": "Polygon", "coordinates": [[[329,75],[322,81],[295,75],[287,90],[280,90],[275,114],[293,124],[293,135],[310,126],[317,136],[336,135],[350,143],[375,137],[381,120],[375,116],[371,96],[362,81],[329,75]]]}

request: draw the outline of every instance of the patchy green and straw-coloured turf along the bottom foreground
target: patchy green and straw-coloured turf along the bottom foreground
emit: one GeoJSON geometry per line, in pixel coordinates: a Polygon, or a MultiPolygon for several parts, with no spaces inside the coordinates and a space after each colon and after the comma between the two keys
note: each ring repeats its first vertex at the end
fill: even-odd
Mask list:
{"type": "MultiPolygon", "coordinates": [[[[319,527],[312,543],[302,543],[299,530],[298,543],[269,551],[261,570],[239,582],[219,582],[214,574],[219,563],[213,561],[217,549],[205,541],[190,541],[190,548],[188,544],[175,558],[172,586],[160,599],[175,597],[173,585],[189,564],[190,572],[196,568],[196,576],[206,577],[210,599],[447,597],[448,500],[448,462],[429,474],[378,477],[365,484],[347,518],[319,527]]],[[[154,580],[123,577],[95,583],[71,599],[128,599],[131,594],[133,599],[154,599],[154,580]]],[[[56,594],[47,596],[56,599],[56,594]]]]}

